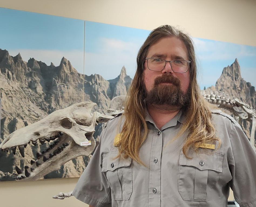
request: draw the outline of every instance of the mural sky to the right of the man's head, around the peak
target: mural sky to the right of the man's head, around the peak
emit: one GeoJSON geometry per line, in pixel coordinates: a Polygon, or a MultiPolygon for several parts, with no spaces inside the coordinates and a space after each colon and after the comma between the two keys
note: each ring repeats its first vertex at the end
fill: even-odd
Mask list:
{"type": "Polygon", "coordinates": [[[201,89],[215,85],[223,68],[231,65],[237,58],[241,76],[256,86],[256,47],[193,38],[198,61],[198,82],[201,89]]]}

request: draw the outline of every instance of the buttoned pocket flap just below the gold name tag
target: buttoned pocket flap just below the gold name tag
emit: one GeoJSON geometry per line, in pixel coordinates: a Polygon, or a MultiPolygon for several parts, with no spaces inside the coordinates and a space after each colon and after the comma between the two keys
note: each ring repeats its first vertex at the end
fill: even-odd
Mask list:
{"type": "Polygon", "coordinates": [[[219,152],[212,152],[209,154],[195,153],[189,154],[192,159],[186,158],[183,151],[180,152],[180,165],[193,166],[199,170],[214,170],[222,172],[222,161],[224,154],[219,152]]]}

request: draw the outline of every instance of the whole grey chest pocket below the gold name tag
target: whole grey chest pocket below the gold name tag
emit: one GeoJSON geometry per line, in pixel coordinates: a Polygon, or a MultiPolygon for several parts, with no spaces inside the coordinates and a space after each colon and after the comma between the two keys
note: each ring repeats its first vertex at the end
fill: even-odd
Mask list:
{"type": "MultiPolygon", "coordinates": [[[[206,201],[207,188],[213,187],[222,172],[224,154],[193,153],[192,159],[187,159],[181,150],[178,191],[183,200],[206,201]]],[[[210,200],[210,198],[208,199],[210,200]]]]}

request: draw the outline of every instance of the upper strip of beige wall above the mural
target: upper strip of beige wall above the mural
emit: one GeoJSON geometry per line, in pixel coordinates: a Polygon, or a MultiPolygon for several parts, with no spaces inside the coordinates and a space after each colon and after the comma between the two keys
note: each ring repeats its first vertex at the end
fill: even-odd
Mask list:
{"type": "Polygon", "coordinates": [[[179,25],[193,37],[256,46],[255,0],[1,0],[0,7],[149,30],[179,25]]]}

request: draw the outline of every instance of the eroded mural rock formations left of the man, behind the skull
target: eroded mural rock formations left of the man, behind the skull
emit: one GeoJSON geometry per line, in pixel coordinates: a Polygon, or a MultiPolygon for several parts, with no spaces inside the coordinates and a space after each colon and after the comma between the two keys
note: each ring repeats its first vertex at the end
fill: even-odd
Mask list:
{"type": "MultiPolygon", "coordinates": [[[[107,111],[114,94],[127,93],[124,89],[129,87],[131,78],[125,73],[123,67],[117,78],[107,81],[97,74],[88,76],[78,73],[64,57],[59,66],[53,63],[48,66],[34,58],[23,61],[21,54],[12,57],[7,50],[0,49],[1,142],[15,130],[74,103],[91,101],[97,103],[92,112],[107,111]]],[[[99,124],[95,128],[101,131],[102,126],[99,124]]],[[[94,137],[97,138],[99,133],[97,131],[94,137]]],[[[36,153],[48,147],[49,143],[45,146],[28,145],[24,149],[28,155],[25,159],[20,153],[15,156],[12,151],[2,153],[0,171],[13,173],[16,165],[21,168],[29,166],[30,160],[36,158],[36,153]]],[[[78,157],[44,177],[80,176],[88,161],[85,157],[78,157]]]]}

